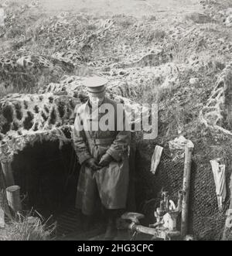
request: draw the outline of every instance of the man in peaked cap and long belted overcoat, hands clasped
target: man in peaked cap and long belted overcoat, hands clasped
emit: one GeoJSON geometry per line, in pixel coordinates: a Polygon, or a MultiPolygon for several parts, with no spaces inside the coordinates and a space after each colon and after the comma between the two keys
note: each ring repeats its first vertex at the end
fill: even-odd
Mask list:
{"type": "Polygon", "coordinates": [[[84,215],[93,216],[97,199],[100,199],[107,216],[105,239],[112,239],[117,234],[116,219],[127,203],[131,134],[125,131],[125,114],[118,120],[117,103],[105,96],[106,84],[107,80],[102,77],[85,80],[90,98],[77,108],[73,142],[81,165],[76,206],[84,215]],[[111,118],[114,115],[112,124],[108,124],[111,129],[106,131],[100,127],[101,118],[107,113],[101,110],[104,105],[111,105],[113,111],[108,114],[111,118]],[[120,121],[123,124],[118,131],[120,121]],[[93,129],[94,124],[97,124],[97,131],[93,129]]]}

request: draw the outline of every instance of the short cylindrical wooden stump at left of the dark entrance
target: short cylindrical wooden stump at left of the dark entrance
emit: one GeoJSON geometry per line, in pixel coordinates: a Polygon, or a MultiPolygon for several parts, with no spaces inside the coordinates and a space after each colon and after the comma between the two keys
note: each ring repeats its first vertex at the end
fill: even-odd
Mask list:
{"type": "Polygon", "coordinates": [[[15,212],[22,210],[22,204],[20,200],[20,187],[19,186],[9,186],[6,189],[6,197],[9,203],[9,207],[15,212]]]}

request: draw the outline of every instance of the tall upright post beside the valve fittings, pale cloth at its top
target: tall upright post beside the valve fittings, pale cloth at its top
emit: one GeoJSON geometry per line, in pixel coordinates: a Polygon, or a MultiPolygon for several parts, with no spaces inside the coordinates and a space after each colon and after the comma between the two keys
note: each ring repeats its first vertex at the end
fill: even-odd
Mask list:
{"type": "Polygon", "coordinates": [[[181,217],[181,236],[185,237],[188,231],[189,217],[189,191],[191,180],[191,165],[192,165],[193,145],[186,145],[185,148],[185,166],[183,174],[183,207],[181,217]]]}

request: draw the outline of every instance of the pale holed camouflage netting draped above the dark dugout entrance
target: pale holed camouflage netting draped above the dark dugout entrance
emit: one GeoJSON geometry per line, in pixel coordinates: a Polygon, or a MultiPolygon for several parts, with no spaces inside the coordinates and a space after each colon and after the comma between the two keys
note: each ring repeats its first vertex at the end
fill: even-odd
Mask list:
{"type": "Polygon", "coordinates": [[[69,142],[78,103],[75,98],[53,94],[15,94],[2,99],[1,161],[11,162],[17,152],[37,141],[69,142]]]}

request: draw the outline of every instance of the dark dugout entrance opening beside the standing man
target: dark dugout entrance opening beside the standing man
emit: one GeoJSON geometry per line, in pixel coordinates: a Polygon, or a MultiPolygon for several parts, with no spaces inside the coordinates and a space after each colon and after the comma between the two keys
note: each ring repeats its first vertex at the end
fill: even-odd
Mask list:
{"type": "Polygon", "coordinates": [[[12,162],[15,184],[21,187],[24,209],[47,218],[74,207],[80,166],[70,144],[36,142],[12,162]]]}

